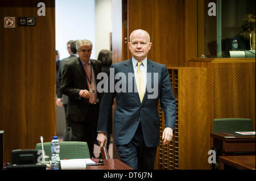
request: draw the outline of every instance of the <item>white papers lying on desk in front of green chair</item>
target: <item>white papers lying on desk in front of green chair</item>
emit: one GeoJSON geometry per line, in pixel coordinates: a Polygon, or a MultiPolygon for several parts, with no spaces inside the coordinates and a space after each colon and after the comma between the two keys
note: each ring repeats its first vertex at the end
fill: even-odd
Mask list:
{"type": "Polygon", "coordinates": [[[85,170],[86,165],[96,165],[96,162],[86,159],[61,159],[61,170],[85,170]]]}

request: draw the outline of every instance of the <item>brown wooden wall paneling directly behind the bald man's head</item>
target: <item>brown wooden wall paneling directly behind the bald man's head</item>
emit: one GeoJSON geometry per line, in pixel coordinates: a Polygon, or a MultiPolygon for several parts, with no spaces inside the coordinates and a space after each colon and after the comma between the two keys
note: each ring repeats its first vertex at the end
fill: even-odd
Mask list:
{"type": "Polygon", "coordinates": [[[136,29],[150,34],[148,59],[184,66],[184,1],[129,0],[128,5],[129,35],[136,29]]]}

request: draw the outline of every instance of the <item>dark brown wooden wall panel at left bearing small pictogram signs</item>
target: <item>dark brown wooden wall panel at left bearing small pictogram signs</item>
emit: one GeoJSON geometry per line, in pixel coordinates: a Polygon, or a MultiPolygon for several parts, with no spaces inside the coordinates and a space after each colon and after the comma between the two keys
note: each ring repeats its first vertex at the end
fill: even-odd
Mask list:
{"type": "Polygon", "coordinates": [[[5,162],[11,150],[35,149],[56,134],[55,1],[0,2],[0,129],[5,131],[5,162]],[[4,28],[3,17],[15,16],[15,28],[4,28]],[[35,27],[19,27],[18,17],[35,17],[35,27]]]}

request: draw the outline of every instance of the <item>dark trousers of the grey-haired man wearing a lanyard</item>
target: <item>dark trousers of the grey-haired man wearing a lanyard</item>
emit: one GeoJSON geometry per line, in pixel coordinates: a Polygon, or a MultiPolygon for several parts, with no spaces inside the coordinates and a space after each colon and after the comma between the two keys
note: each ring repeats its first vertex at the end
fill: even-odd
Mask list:
{"type": "Polygon", "coordinates": [[[90,157],[93,155],[93,146],[97,132],[99,108],[100,104],[90,104],[85,120],[82,120],[81,122],[69,121],[72,129],[72,141],[87,142],[90,151],[90,157]]]}

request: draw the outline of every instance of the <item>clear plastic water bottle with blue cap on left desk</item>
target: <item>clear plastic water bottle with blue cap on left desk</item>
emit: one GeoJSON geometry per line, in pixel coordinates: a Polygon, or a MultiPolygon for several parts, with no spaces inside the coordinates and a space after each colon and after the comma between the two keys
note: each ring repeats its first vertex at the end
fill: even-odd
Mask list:
{"type": "Polygon", "coordinates": [[[51,141],[51,166],[54,170],[59,170],[60,168],[60,141],[57,136],[53,136],[51,141]]]}

